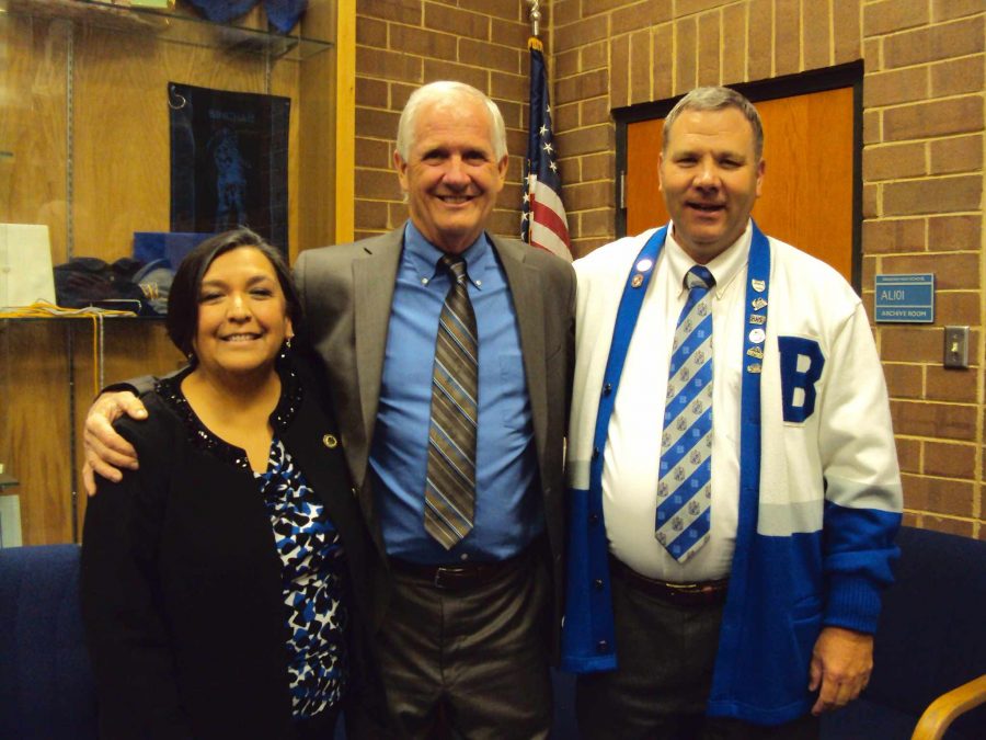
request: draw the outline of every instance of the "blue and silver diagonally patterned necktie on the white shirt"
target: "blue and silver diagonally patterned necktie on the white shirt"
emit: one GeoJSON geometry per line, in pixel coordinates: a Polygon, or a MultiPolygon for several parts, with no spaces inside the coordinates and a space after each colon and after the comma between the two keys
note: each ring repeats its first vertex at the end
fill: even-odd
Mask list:
{"type": "Polygon", "coordinates": [[[709,540],[712,503],[712,286],[697,265],[675,328],[657,482],[655,536],[685,562],[709,540]]]}

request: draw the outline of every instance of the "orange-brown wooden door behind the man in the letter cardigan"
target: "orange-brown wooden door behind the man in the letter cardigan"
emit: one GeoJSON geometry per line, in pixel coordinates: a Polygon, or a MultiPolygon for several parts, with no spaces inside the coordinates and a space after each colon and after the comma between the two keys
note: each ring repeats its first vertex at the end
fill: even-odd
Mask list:
{"type": "MultiPolygon", "coordinates": [[[[824,260],[852,282],[852,88],[756,106],[767,169],[754,219],[765,234],[824,260]]],[[[663,118],[652,118],[627,126],[627,234],[667,221],[657,183],[663,125],[663,118]]]]}

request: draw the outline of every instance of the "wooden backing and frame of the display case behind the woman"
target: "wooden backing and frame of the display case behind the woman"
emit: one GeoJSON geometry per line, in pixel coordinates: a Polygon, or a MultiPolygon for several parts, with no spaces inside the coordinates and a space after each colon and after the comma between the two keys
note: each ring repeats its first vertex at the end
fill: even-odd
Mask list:
{"type": "MultiPolygon", "coordinates": [[[[229,23],[183,0],[140,4],[0,0],[0,224],[47,226],[55,265],[112,263],[133,257],[135,232],[177,230],[179,84],[289,101],[279,246],[294,258],[348,236],[336,219],[352,212],[336,185],[352,94],[339,39],[352,36],[355,3],[309,0],[287,34],[271,30],[263,3],[229,23]]],[[[0,545],[78,542],[94,388],[182,357],[156,319],[3,316],[0,545]]]]}

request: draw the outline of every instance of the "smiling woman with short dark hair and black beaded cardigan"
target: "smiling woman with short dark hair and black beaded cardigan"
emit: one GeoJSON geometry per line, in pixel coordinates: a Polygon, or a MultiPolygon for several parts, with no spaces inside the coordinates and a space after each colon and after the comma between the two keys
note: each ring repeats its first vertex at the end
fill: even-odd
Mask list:
{"type": "Polygon", "coordinates": [[[100,481],[82,607],[104,738],[332,738],[365,701],[368,535],[328,400],[291,357],[300,304],[248,229],[179,267],[190,365],[121,419],[140,468],[100,481]]]}

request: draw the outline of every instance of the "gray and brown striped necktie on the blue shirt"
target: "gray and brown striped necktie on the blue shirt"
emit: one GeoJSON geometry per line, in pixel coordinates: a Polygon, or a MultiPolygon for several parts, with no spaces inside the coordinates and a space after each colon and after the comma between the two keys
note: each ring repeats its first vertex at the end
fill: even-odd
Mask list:
{"type": "Polygon", "coordinates": [[[466,262],[448,254],[439,262],[452,284],[435,341],[424,525],[445,549],[451,549],[472,530],[475,511],[479,344],[466,291],[466,262]]]}

